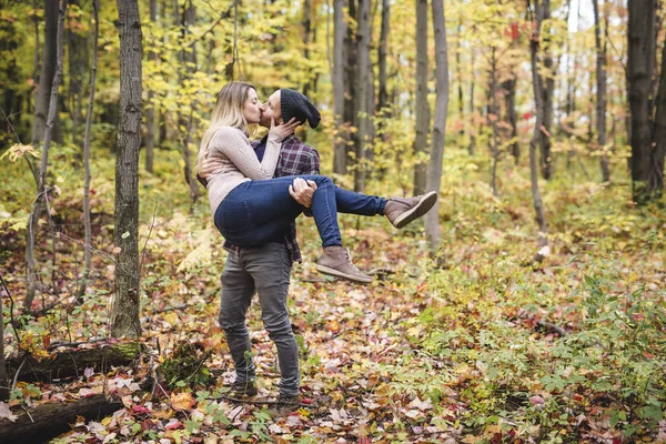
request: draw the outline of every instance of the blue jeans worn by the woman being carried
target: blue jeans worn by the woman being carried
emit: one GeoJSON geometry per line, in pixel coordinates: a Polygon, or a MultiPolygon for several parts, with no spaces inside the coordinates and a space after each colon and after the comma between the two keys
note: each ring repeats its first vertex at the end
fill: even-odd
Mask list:
{"type": "MultiPolygon", "coordinates": [[[[239,246],[280,242],[304,208],[289,194],[294,175],[243,182],[215,210],[215,226],[239,246]]],[[[343,190],[324,175],[300,175],[317,185],[312,196],[312,216],[324,248],[342,245],[337,212],[384,214],[386,199],[343,190]]]]}

